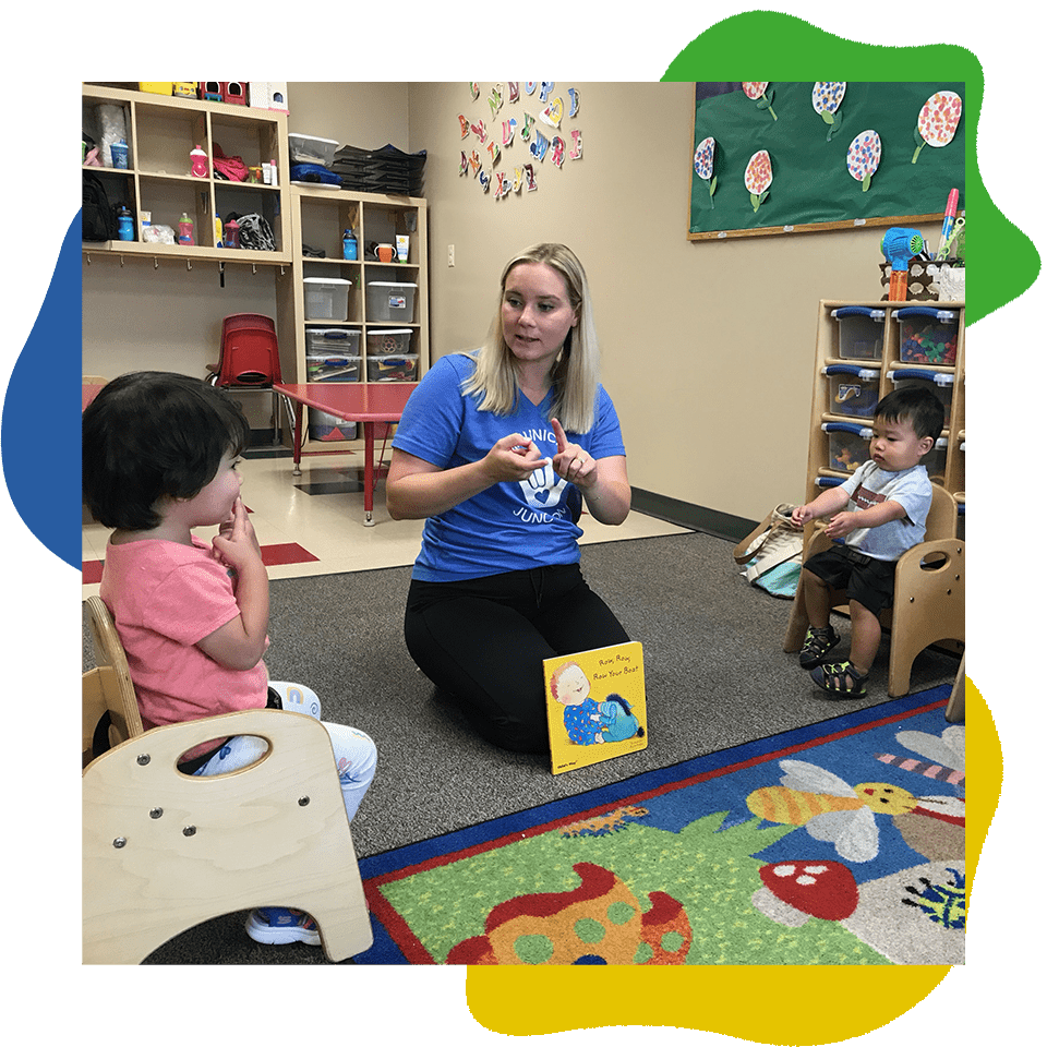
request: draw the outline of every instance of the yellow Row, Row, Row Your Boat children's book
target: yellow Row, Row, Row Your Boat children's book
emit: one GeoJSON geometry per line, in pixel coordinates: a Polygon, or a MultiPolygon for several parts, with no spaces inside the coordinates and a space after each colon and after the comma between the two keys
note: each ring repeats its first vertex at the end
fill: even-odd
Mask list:
{"type": "Polygon", "coordinates": [[[554,774],[647,748],[642,643],[563,654],[542,664],[554,774]]]}

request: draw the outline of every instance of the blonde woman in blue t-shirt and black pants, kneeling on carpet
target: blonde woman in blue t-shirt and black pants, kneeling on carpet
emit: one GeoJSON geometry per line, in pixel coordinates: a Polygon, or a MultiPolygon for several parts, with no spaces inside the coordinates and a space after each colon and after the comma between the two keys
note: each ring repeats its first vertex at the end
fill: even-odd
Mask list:
{"type": "Polygon", "coordinates": [[[411,657],[488,741],[546,751],[543,659],[628,640],[578,565],[582,501],[617,525],[631,490],[570,250],[509,260],[486,341],[436,361],[393,448],[389,515],[425,519],[411,657]]]}

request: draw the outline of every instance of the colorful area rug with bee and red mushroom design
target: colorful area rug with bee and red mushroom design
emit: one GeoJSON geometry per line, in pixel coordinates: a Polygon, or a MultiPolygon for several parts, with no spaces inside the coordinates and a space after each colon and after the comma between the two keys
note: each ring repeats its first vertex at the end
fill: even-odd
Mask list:
{"type": "Polygon", "coordinates": [[[949,688],[360,863],[363,964],[956,964],[949,688]]]}

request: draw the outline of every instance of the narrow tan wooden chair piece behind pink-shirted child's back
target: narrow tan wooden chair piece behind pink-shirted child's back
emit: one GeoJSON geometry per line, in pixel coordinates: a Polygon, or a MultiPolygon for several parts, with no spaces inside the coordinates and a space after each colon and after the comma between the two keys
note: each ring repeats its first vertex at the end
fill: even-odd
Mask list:
{"type": "Polygon", "coordinates": [[[109,745],[125,742],[143,731],[128,659],[109,609],[99,597],[88,597],[85,606],[95,649],[95,667],[83,675],[82,767],[86,767],[99,749],[106,748],[105,745],[96,748],[94,738],[107,712],[109,745]]]}

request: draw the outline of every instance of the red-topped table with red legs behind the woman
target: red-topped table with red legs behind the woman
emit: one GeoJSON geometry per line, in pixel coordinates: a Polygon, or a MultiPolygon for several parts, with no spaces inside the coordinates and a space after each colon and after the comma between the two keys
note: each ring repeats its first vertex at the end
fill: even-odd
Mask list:
{"type": "MultiPolygon", "coordinates": [[[[302,416],[305,407],[326,411],[335,418],[363,425],[363,508],[364,524],[374,526],[374,484],[388,469],[374,465],[375,423],[398,422],[417,382],[327,383],[309,382],[305,385],[277,384],[274,388],[294,402],[294,476],[302,473],[302,416]]],[[[339,454],[339,452],[305,452],[305,454],[339,454]]]]}

